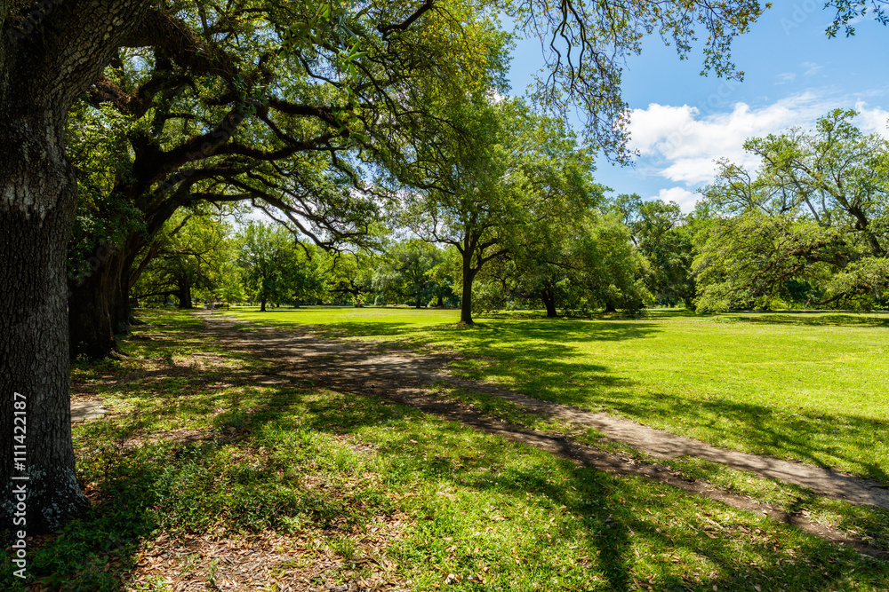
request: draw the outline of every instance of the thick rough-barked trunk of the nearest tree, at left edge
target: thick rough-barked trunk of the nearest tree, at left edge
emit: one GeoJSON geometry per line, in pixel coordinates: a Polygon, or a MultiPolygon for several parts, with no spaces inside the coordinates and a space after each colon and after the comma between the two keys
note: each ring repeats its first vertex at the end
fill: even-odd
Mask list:
{"type": "Polygon", "coordinates": [[[21,484],[27,522],[16,532],[52,531],[87,507],[71,442],[65,259],[77,193],[65,122],[150,4],[72,0],[19,20],[0,2],[0,531],[13,526],[21,484]]]}

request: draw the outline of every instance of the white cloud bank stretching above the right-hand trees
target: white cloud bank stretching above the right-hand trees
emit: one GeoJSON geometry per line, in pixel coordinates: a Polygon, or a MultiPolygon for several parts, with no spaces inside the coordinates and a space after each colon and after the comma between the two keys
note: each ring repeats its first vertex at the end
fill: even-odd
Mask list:
{"type": "MultiPolygon", "coordinates": [[[[714,162],[727,158],[756,169],[758,161],[743,149],[744,140],[780,133],[791,127],[811,129],[816,119],[837,107],[848,108],[855,99],[825,98],[814,92],[786,97],[765,107],[735,103],[731,111],[712,112],[706,106],[681,107],[652,103],[630,114],[630,146],[640,154],[639,164],[653,168],[674,183],[695,188],[712,181],[714,162]]],[[[889,111],[854,103],[861,113],[856,124],[866,132],[889,138],[889,111]]]]}

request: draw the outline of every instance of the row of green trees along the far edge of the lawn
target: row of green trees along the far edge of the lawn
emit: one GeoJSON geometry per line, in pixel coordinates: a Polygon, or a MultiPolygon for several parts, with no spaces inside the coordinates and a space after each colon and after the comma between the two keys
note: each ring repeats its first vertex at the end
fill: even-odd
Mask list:
{"type": "Polygon", "coordinates": [[[606,199],[573,135],[520,101],[467,108],[476,141],[455,138],[450,166],[422,167],[424,188],[388,179],[387,223],[364,246],[325,250],[285,225],[180,214],[133,295],[183,308],[194,297],[263,310],[450,306],[470,324],[473,312],[513,308],[556,317],[889,304],[889,149],[853,126],[852,111],[749,139],[758,170],[720,161],[684,214],[637,194],[606,199]]]}

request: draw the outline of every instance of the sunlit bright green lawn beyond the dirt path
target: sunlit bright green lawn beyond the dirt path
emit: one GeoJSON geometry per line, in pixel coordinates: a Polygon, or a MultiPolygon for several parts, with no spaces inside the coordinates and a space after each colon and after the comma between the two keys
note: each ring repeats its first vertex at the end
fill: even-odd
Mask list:
{"type": "Polygon", "coordinates": [[[717,446],[889,484],[889,315],[653,310],[638,319],[457,311],[237,308],[277,326],[457,354],[471,378],[608,411],[717,446]]]}

